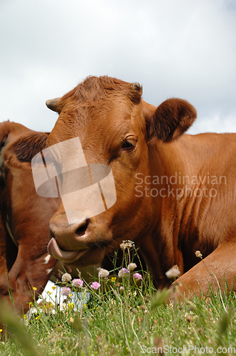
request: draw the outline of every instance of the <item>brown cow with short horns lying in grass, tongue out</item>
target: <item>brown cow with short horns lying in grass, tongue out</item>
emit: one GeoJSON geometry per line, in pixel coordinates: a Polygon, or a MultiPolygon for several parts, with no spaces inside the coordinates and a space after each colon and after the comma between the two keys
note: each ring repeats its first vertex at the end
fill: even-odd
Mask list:
{"type": "MultiPolygon", "coordinates": [[[[176,98],[156,108],[141,93],[139,83],[89,77],[62,98],[48,100],[59,113],[48,147],[79,137],[87,164],[112,168],[117,194],[115,204],[92,216],[80,208],[86,195],[79,201],[70,193],[70,222],[61,202],[50,220],[48,251],[81,267],[102,261],[129,239],[139,246],[156,288],[169,286],[166,271],[174,265],[181,292],[199,295],[200,284],[207,293],[215,278],[235,288],[236,134],[183,135],[195,108],[176,98]]],[[[76,166],[71,147],[60,155],[66,164],[74,157],[76,166]]],[[[67,184],[63,178],[62,192],[67,184]]]]}

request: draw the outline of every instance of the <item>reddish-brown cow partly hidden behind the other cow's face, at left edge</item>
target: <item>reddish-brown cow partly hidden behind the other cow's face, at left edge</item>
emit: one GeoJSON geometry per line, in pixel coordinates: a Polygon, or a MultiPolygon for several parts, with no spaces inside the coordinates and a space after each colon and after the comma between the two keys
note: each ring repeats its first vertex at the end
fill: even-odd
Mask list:
{"type": "Polygon", "coordinates": [[[18,313],[26,313],[29,287],[37,299],[57,261],[47,252],[48,222],[60,199],[38,197],[33,184],[31,159],[48,134],[2,122],[0,136],[0,295],[9,298],[10,290],[18,313]]]}

